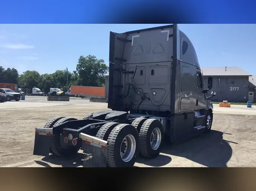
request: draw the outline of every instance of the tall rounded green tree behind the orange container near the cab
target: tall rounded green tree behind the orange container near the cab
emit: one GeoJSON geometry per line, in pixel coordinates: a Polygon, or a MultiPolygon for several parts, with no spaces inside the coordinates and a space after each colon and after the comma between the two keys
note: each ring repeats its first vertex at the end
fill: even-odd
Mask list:
{"type": "Polygon", "coordinates": [[[94,55],[80,56],[77,64],[78,84],[82,86],[102,86],[104,74],[108,66],[103,59],[98,60],[94,55]]]}

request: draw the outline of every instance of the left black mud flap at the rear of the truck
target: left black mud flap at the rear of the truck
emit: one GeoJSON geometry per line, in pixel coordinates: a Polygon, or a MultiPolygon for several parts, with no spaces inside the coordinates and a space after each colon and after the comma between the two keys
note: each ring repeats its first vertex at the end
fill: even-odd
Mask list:
{"type": "Polygon", "coordinates": [[[52,136],[36,134],[33,155],[49,156],[51,142],[52,136]]]}

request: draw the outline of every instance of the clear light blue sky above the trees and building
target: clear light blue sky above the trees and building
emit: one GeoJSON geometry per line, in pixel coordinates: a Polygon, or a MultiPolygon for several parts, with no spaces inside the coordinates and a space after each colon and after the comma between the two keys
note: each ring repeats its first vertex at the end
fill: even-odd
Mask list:
{"type": "MultiPolygon", "coordinates": [[[[95,55],[108,65],[109,32],[167,24],[0,24],[0,66],[19,74],[68,68],[80,55],[95,55]]],[[[237,66],[256,75],[255,24],[179,24],[195,47],[201,67],[237,66]]]]}

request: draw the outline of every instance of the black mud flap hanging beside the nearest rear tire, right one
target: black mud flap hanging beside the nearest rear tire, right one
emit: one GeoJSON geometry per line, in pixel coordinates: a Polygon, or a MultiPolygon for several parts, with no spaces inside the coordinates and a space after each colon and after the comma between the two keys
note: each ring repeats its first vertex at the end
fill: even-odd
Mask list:
{"type": "Polygon", "coordinates": [[[83,167],[107,167],[107,149],[86,144],[82,141],[84,152],[83,167]]]}

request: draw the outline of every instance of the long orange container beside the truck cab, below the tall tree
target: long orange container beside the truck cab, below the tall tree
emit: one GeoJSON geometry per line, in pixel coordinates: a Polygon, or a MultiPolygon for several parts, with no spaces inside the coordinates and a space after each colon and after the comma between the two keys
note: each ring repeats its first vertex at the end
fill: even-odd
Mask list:
{"type": "Polygon", "coordinates": [[[91,86],[71,86],[71,94],[82,95],[96,95],[105,97],[104,87],[91,87],[91,86]]]}

